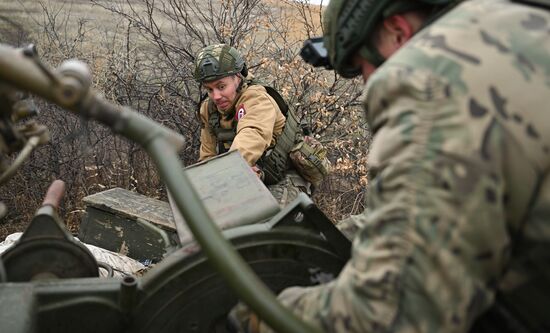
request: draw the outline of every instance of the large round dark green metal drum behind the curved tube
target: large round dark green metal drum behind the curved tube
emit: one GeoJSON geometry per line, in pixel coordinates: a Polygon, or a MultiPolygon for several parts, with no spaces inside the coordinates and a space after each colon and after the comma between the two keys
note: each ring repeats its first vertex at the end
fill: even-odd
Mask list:
{"type": "MultiPolygon", "coordinates": [[[[232,243],[275,293],[330,281],[348,259],[319,233],[302,227],[243,234],[232,243]]],[[[227,332],[227,313],[238,301],[206,257],[186,248],[149,271],[141,290],[133,332],[227,332]]]]}

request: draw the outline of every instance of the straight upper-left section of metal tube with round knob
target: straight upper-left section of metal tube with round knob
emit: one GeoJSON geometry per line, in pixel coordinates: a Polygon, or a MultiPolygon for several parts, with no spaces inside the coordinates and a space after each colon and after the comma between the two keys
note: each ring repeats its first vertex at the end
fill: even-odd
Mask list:
{"type": "Polygon", "coordinates": [[[62,64],[64,71],[49,71],[38,66],[37,59],[20,49],[0,44],[0,81],[32,92],[75,114],[94,119],[115,133],[143,146],[154,137],[163,136],[176,150],[184,145],[181,135],[131,110],[115,105],[91,89],[87,81],[91,75],[87,67],[77,61],[62,64]],[[64,66],[65,65],[65,66],[64,66]],[[55,77],[55,82],[52,82],[55,77]]]}

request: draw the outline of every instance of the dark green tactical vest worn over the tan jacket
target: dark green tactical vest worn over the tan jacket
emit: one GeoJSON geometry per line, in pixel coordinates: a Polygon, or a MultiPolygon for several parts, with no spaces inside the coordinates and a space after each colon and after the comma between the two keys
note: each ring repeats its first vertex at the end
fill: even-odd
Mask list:
{"type": "MultiPolygon", "coordinates": [[[[247,83],[248,85],[260,84],[256,81],[248,81],[247,83]]],[[[289,109],[288,104],[281,94],[273,87],[266,85],[262,86],[269,96],[275,100],[277,106],[286,117],[285,127],[282,133],[276,138],[276,144],[273,147],[269,147],[257,162],[258,166],[264,172],[264,183],[266,185],[273,185],[281,181],[286,171],[289,169],[288,153],[294,146],[296,136],[302,133],[302,129],[298,118],[294,112],[289,109]]],[[[235,120],[234,112],[235,110],[233,110],[233,114],[227,116],[227,119],[229,119],[229,117],[233,119],[231,128],[221,128],[221,114],[216,109],[214,102],[212,102],[212,100],[208,101],[208,126],[212,134],[216,137],[218,154],[227,151],[227,148],[225,148],[226,145],[230,146],[237,134],[237,120],[235,120]]]]}

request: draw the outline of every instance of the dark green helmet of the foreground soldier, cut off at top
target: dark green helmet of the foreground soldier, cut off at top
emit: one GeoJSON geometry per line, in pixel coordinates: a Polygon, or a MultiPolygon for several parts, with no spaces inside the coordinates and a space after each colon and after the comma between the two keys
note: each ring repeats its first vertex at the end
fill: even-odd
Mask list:
{"type": "MultiPolygon", "coordinates": [[[[324,43],[334,70],[345,78],[361,74],[351,57],[359,52],[378,67],[384,57],[371,44],[377,25],[387,17],[409,10],[444,6],[457,0],[331,0],[325,11],[324,43]]],[[[440,13],[434,11],[434,15],[440,13]]]]}

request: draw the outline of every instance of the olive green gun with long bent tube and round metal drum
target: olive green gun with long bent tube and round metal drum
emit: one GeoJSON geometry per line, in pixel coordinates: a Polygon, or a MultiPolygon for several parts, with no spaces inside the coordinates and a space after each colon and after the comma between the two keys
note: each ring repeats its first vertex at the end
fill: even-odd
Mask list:
{"type": "Polygon", "coordinates": [[[258,223],[220,231],[178,159],[178,134],[102,98],[83,63],[52,70],[35,48],[7,45],[0,45],[0,183],[49,138],[40,124],[19,124],[34,112],[22,99],[28,93],[138,143],[195,241],[142,277],[99,278],[98,263],[57,214],[63,185],[54,182],[18,243],[1,256],[1,332],[224,332],[239,299],[279,332],[318,331],[274,296],[335,277],[349,256],[349,242],[307,196],[258,223]],[[12,162],[8,154],[16,155],[12,162]]]}

